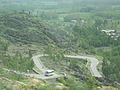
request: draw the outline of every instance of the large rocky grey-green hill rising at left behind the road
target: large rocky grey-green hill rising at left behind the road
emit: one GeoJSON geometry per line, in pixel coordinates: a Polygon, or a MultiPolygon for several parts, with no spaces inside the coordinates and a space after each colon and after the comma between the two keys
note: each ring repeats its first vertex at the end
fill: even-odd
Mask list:
{"type": "Polygon", "coordinates": [[[16,13],[0,16],[0,36],[16,43],[41,43],[60,46],[69,41],[69,35],[62,30],[49,27],[38,18],[27,14],[16,13]]]}

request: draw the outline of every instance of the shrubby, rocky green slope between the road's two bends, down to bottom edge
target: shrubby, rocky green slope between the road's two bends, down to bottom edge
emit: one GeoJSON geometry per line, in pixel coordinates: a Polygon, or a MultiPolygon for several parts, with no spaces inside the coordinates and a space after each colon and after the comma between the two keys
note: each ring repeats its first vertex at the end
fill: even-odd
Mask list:
{"type": "Polygon", "coordinates": [[[63,83],[70,90],[97,90],[97,85],[100,84],[91,77],[86,67],[87,61],[66,58],[61,50],[51,45],[46,49],[45,54],[49,56],[41,57],[41,61],[47,68],[67,75],[66,78],[58,79],[58,82],[63,83]]]}

